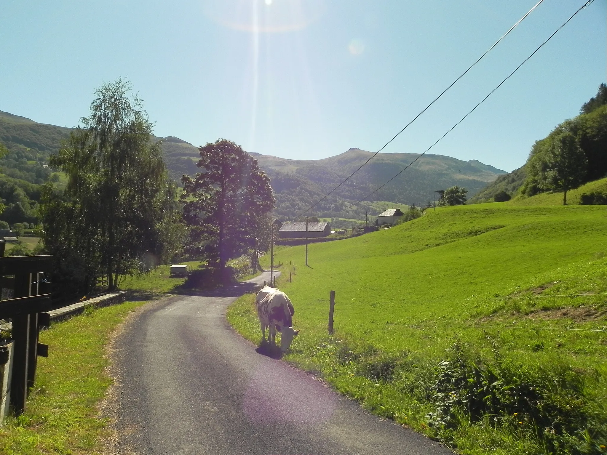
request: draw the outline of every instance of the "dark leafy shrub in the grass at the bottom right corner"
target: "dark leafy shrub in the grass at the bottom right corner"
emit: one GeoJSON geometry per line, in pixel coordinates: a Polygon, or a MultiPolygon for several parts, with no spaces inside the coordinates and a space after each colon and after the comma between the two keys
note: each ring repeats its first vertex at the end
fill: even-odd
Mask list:
{"type": "Polygon", "coordinates": [[[471,422],[531,428],[548,453],[599,454],[597,441],[607,437],[607,423],[605,409],[593,408],[585,394],[592,380],[565,363],[541,368],[496,356],[492,365],[483,365],[455,345],[438,366],[429,423],[441,433],[454,428],[464,413],[471,422]]]}

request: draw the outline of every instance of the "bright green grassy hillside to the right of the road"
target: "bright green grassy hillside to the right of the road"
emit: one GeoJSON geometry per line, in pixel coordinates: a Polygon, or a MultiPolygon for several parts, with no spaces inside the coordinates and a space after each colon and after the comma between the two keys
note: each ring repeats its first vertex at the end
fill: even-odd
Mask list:
{"type": "MultiPolygon", "coordinates": [[[[605,453],[606,245],[605,207],[492,203],[277,249],[287,360],[461,453],[605,453]]],[[[229,320],[259,341],[252,295],[229,320]]]]}

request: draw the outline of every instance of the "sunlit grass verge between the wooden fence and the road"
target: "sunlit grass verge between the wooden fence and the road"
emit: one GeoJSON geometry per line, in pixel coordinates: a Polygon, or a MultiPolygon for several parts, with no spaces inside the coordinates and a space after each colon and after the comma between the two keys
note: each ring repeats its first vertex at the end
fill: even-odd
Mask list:
{"type": "Polygon", "coordinates": [[[53,324],[40,333],[49,357],[38,357],[35,388],[22,416],[0,427],[0,453],[98,454],[107,436],[107,420],[97,403],[111,380],[104,345],[123,318],[144,302],[127,302],[53,324]]]}

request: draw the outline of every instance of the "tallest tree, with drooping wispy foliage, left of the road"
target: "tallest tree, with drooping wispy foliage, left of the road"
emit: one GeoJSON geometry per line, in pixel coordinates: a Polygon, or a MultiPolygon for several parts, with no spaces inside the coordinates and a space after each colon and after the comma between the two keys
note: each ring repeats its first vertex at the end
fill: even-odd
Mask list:
{"type": "Polygon", "coordinates": [[[124,79],[102,84],[83,127],[50,158],[67,184],[43,190],[44,243],[59,275],[83,290],[101,273],[115,289],[121,275],[163,261],[175,247],[175,184],[130,91],[124,79]]]}

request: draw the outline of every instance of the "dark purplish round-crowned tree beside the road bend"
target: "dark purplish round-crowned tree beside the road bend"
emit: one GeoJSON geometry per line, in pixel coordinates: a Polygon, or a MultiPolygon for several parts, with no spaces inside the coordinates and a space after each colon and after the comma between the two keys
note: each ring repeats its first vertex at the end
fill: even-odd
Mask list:
{"type": "Polygon", "coordinates": [[[183,217],[192,244],[226,280],[227,261],[256,248],[254,232],[274,208],[274,195],[257,160],[237,144],[223,139],[198,150],[202,172],[181,178],[183,217]]]}

